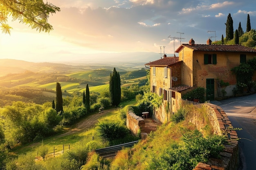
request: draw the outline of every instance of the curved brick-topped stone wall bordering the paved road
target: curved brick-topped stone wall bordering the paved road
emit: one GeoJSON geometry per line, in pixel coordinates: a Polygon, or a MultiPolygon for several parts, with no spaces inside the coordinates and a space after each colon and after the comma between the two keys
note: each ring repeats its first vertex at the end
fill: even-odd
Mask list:
{"type": "MultiPolygon", "coordinates": [[[[231,121],[229,121],[222,108],[214,104],[207,104],[207,107],[214,132],[217,135],[226,134],[229,138],[228,144],[225,145],[225,149],[220,153],[220,159],[210,158],[207,163],[198,163],[193,170],[236,170],[239,165],[237,133],[231,129],[231,121]]],[[[195,125],[201,124],[200,121],[196,121],[196,118],[192,118],[192,121],[195,125]]]]}

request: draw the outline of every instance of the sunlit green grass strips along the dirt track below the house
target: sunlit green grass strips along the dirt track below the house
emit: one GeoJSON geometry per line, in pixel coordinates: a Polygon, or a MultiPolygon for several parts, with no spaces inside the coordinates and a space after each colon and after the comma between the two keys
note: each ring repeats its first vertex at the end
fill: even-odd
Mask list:
{"type": "MultiPolygon", "coordinates": [[[[135,100],[132,101],[128,101],[128,102],[122,102],[120,104],[120,106],[126,106],[126,105],[130,105],[130,104],[135,104],[135,100]]],[[[95,113],[91,113],[92,114],[97,114],[98,112],[95,113]]],[[[90,116],[86,116],[85,118],[83,118],[81,121],[84,121],[85,119],[88,119],[88,117],[90,116]]],[[[115,121],[115,122],[119,122],[121,123],[121,117],[119,115],[119,108],[115,108],[113,111],[108,112],[106,114],[102,114],[102,117],[99,118],[99,121],[115,121]]],[[[65,128],[65,131],[67,132],[68,130],[70,130],[71,128],[74,128],[74,126],[72,127],[68,127],[65,128]]],[[[88,142],[92,141],[92,139],[97,142],[99,144],[99,146],[101,147],[105,147],[106,145],[108,145],[108,143],[104,143],[101,138],[99,137],[99,134],[97,132],[97,130],[95,128],[90,128],[89,130],[86,131],[80,131],[80,132],[76,132],[73,133],[71,135],[65,135],[63,137],[59,137],[58,135],[52,136],[52,137],[47,137],[45,139],[43,139],[43,144],[45,147],[48,148],[49,153],[53,153],[54,149],[55,152],[59,152],[63,150],[63,145],[64,145],[64,150],[72,150],[74,148],[76,148],[79,145],[86,145],[88,142]]],[[[42,144],[42,141],[40,142],[36,142],[34,144],[27,144],[27,145],[23,145],[23,146],[16,146],[15,148],[13,148],[11,151],[11,155],[13,156],[18,156],[21,154],[26,154],[27,152],[31,152],[32,154],[36,155],[38,152],[38,147],[42,144]]]]}

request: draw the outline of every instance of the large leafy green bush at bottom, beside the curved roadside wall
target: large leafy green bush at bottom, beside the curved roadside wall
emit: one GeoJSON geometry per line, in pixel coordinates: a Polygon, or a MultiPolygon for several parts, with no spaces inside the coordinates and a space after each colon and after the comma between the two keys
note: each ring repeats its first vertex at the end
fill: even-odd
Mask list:
{"type": "Polygon", "coordinates": [[[185,132],[182,140],[184,145],[173,144],[159,158],[153,157],[150,169],[192,170],[209,157],[219,157],[226,143],[223,136],[212,135],[204,138],[198,130],[185,132]]]}

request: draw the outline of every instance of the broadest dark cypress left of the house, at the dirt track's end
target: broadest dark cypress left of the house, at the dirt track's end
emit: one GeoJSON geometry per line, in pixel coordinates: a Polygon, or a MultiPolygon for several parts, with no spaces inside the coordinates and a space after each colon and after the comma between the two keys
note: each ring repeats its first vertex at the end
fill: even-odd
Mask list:
{"type": "Polygon", "coordinates": [[[121,102],[121,80],[116,68],[114,68],[113,73],[110,73],[109,93],[111,105],[118,106],[121,102]]]}

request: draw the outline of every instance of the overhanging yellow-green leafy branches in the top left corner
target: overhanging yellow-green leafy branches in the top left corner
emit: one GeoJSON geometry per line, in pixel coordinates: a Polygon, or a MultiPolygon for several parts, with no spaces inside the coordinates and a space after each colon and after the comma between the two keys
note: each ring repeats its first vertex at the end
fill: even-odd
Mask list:
{"type": "Polygon", "coordinates": [[[0,27],[3,33],[10,34],[8,16],[13,20],[29,24],[31,29],[49,32],[53,29],[48,23],[49,14],[61,11],[59,7],[43,0],[1,0],[0,1],[0,27]]]}

